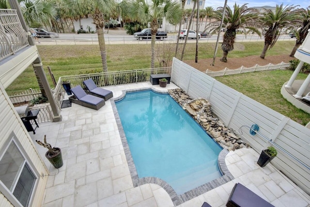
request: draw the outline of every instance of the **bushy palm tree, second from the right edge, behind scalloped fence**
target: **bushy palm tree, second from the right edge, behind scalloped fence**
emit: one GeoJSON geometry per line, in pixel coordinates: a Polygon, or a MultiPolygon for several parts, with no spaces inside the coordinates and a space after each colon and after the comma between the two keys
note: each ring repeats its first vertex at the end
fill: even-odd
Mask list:
{"type": "MultiPolygon", "coordinates": [[[[298,5],[297,5],[298,6],[298,5]]],[[[300,19],[301,9],[296,9],[297,6],[281,5],[276,6],[276,10],[273,12],[270,9],[265,9],[262,16],[262,24],[264,28],[267,28],[265,37],[265,44],[261,54],[261,58],[265,58],[267,49],[271,49],[279,38],[280,31],[283,28],[294,28],[295,25],[301,24],[300,19]]]]}

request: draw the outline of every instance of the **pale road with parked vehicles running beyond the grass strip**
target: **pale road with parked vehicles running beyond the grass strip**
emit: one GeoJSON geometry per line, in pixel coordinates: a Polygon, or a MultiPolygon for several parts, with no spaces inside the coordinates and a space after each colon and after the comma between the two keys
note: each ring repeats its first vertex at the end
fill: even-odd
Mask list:
{"type": "MultiPolygon", "coordinates": [[[[168,37],[164,41],[156,40],[156,42],[169,42],[175,43],[177,35],[168,34],[168,37]]],[[[220,36],[220,41],[223,39],[223,34],[220,36]]],[[[295,41],[295,38],[291,38],[288,34],[281,35],[278,41],[295,41]]],[[[83,44],[98,44],[98,36],[96,34],[60,34],[59,38],[44,38],[40,39],[42,44],[51,45],[83,45],[83,44]]],[[[105,34],[106,44],[151,44],[151,39],[137,40],[133,35],[114,35],[105,34]]],[[[184,42],[185,40],[180,40],[184,42]]],[[[201,37],[199,42],[216,42],[217,35],[211,37],[201,37]]],[[[258,35],[247,35],[237,34],[235,42],[258,42],[264,41],[263,37],[260,38],[258,35]]],[[[188,40],[189,43],[196,42],[195,39],[188,40]]]]}

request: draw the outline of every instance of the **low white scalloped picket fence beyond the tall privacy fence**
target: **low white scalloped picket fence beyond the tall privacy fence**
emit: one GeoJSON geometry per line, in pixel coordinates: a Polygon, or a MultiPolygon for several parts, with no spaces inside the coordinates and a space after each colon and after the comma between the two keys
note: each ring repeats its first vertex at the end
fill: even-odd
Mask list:
{"type": "Polygon", "coordinates": [[[229,69],[225,67],[222,70],[219,71],[213,71],[213,70],[205,70],[203,73],[207,74],[210,77],[216,77],[216,76],[225,76],[225,75],[233,75],[233,74],[240,74],[240,73],[248,73],[248,72],[254,72],[254,71],[263,71],[263,70],[274,70],[274,69],[285,69],[289,67],[291,64],[281,62],[280,64],[267,64],[267,65],[259,65],[256,64],[253,67],[245,67],[241,66],[237,69],[229,69]]]}

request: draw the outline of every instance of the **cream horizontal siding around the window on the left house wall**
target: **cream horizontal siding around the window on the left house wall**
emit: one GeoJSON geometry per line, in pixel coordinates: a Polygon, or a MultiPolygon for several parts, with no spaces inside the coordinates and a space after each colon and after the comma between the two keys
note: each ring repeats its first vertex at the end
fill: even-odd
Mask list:
{"type": "MultiPolygon", "coordinates": [[[[11,103],[9,96],[6,94],[5,89],[1,82],[0,82],[0,111],[1,111],[0,148],[2,148],[7,139],[10,138],[11,133],[14,132],[16,138],[21,143],[21,145],[23,146],[25,152],[29,157],[28,161],[33,164],[34,168],[38,171],[39,175],[42,174],[48,175],[48,170],[44,164],[44,161],[41,159],[39,153],[35,149],[31,137],[29,136],[20,117],[15,111],[14,106],[11,103]]],[[[42,178],[41,176],[38,177],[38,185],[34,194],[33,204],[31,206],[33,207],[41,206],[45,186],[47,183],[47,177],[48,176],[44,176],[44,178],[42,178]]],[[[0,194],[0,206],[1,207],[12,206],[10,202],[7,200],[7,198],[3,196],[3,194],[0,194]]]]}

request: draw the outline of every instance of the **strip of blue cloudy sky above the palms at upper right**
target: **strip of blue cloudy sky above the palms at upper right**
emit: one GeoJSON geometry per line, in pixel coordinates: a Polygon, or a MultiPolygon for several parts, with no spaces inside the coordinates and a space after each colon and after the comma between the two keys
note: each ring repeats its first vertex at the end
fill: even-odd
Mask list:
{"type": "MultiPolygon", "coordinates": [[[[248,7],[256,7],[256,6],[276,6],[281,5],[300,5],[300,8],[307,8],[310,6],[310,1],[309,0],[227,0],[227,5],[233,9],[234,3],[237,3],[237,5],[243,5],[245,3],[248,3],[248,7]]],[[[223,7],[225,3],[225,0],[205,0],[204,7],[207,6],[212,6],[214,9],[217,7],[221,6],[223,7]]]]}

